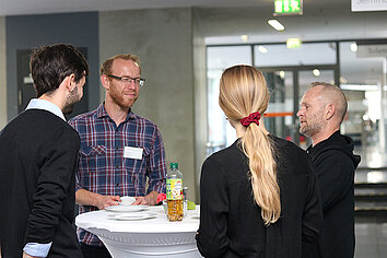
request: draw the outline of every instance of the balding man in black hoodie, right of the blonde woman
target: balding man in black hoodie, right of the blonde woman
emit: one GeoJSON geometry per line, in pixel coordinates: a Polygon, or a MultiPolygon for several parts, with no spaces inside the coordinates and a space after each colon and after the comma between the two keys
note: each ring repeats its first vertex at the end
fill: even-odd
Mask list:
{"type": "Polygon", "coordinates": [[[342,91],[324,82],[312,83],[301,101],[300,132],[312,139],[307,152],[318,177],[324,223],[318,243],[321,258],[354,255],[354,169],[360,156],[353,141],[340,134],[347,113],[342,91]]]}

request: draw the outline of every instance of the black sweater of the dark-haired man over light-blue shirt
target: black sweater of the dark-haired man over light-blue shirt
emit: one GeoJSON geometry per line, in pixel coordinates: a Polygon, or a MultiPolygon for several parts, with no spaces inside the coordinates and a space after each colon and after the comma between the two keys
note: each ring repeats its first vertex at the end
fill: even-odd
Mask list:
{"type": "Polygon", "coordinates": [[[82,257],[74,231],[80,139],[64,120],[28,109],[0,133],[0,243],[20,258],[26,243],[52,243],[48,257],[82,257]]]}

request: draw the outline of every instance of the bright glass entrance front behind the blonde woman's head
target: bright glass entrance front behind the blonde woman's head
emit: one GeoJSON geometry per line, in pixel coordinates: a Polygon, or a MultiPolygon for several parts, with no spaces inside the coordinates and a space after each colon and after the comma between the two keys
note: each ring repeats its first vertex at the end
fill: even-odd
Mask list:
{"type": "Polygon", "coordinates": [[[263,119],[267,129],[305,148],[308,142],[298,133],[296,117],[300,99],[312,82],[338,81],[337,48],[336,43],[308,43],[297,49],[289,49],[286,44],[208,47],[207,154],[232,144],[236,139],[235,130],[218,104],[219,79],[224,69],[242,63],[257,67],[267,79],[270,91],[270,104],[263,119]]]}

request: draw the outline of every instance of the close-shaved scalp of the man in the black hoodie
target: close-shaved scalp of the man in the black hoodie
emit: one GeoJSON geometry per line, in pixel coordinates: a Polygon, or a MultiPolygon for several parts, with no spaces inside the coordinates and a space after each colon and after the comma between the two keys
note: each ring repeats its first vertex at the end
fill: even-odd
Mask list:
{"type": "Polygon", "coordinates": [[[340,87],[326,82],[313,82],[310,83],[313,89],[319,87],[319,97],[325,105],[332,104],[336,107],[339,122],[341,124],[345,117],[348,103],[344,93],[340,87]]]}

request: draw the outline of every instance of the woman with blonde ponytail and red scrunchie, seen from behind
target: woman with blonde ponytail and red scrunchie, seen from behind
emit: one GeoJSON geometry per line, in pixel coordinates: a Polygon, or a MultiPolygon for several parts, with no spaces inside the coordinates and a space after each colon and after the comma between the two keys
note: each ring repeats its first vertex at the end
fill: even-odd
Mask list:
{"type": "Polygon", "coordinates": [[[269,134],[269,93],[254,67],[226,69],[219,104],[237,140],[203,163],[197,245],[204,257],[316,257],[321,208],[312,162],[269,134]]]}

